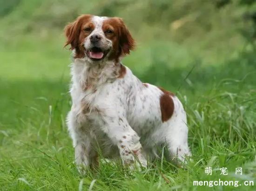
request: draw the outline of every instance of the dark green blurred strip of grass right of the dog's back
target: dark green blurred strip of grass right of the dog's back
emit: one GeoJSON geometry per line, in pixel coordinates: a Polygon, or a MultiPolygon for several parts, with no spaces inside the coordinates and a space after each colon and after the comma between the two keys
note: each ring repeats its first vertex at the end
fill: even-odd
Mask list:
{"type": "MultiPolygon", "coordinates": [[[[219,85],[221,86],[223,86],[223,84],[229,84],[229,86],[224,87],[226,91],[228,89],[237,88],[238,82],[241,83],[241,86],[243,86],[245,82],[248,86],[255,82],[255,51],[241,52],[238,57],[217,67],[214,65],[203,66],[200,60],[194,60],[186,67],[170,68],[168,66],[168,60],[159,61],[158,57],[155,57],[153,60],[155,60],[153,61],[155,64],[150,65],[150,67],[140,75],[141,80],[164,88],[171,86],[174,92],[186,89],[195,93],[199,91],[198,87],[209,90],[213,88],[213,86],[209,86],[209,84],[214,84],[217,81],[219,81],[219,85]],[[225,78],[223,79],[223,77],[225,78]],[[222,81],[219,79],[222,79],[222,81]],[[231,82],[233,82],[233,84],[231,82]]],[[[253,86],[250,88],[251,90],[255,89],[253,86]]],[[[240,90],[242,90],[242,88],[240,88],[240,90]]]]}

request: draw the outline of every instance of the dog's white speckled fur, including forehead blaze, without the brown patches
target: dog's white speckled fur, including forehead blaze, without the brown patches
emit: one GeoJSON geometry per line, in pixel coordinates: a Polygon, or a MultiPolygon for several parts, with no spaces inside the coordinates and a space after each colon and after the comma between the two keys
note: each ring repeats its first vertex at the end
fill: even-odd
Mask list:
{"type": "MultiPolygon", "coordinates": [[[[103,19],[94,19],[98,24],[95,32],[101,33],[103,19]]],[[[124,164],[133,164],[138,159],[142,166],[147,165],[146,155],[158,154],[157,147],[165,144],[172,158],[183,160],[190,155],[186,114],[176,96],[172,96],[173,115],[162,122],[163,92],[159,88],[141,83],[127,67],[123,77],[113,75],[113,71],[120,69],[120,63],[92,64],[88,59],[76,58],[71,65],[72,108],[67,126],[78,166],[94,163],[98,147],[104,157],[119,155],[124,164]],[[88,81],[93,86],[85,89],[88,81]]]]}

